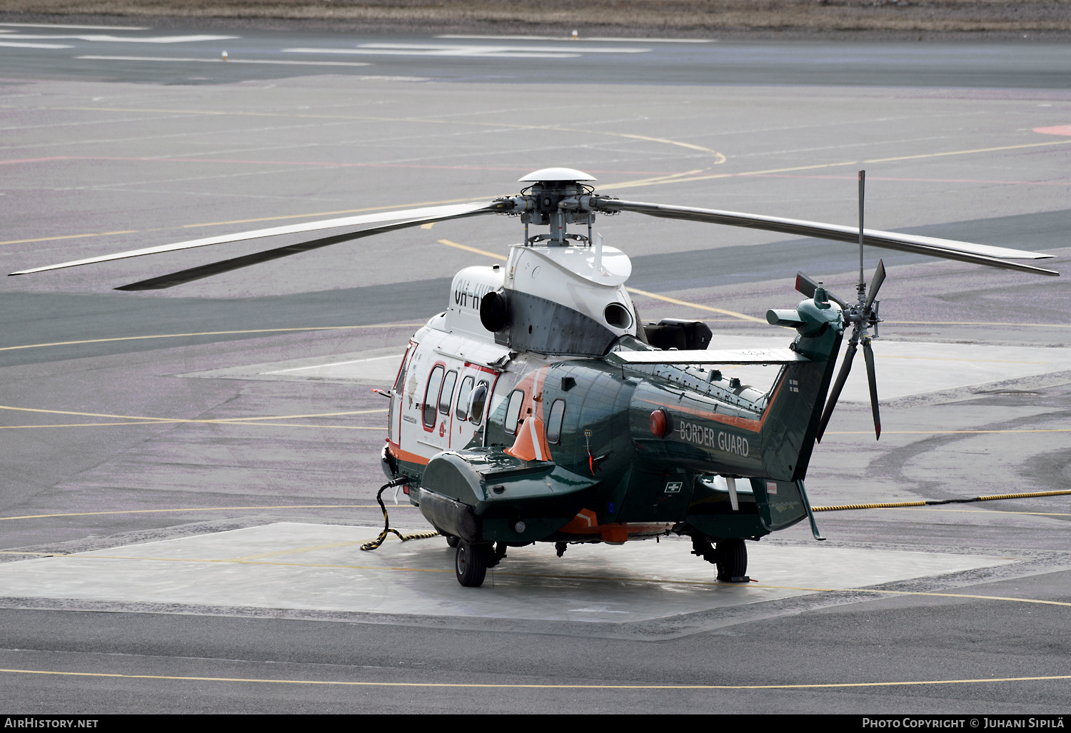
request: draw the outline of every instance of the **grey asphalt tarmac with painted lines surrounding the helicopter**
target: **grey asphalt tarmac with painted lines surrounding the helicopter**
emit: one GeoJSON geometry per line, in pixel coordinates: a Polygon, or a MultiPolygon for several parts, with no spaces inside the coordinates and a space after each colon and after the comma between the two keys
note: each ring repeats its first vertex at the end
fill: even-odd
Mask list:
{"type": "MultiPolygon", "coordinates": [[[[266,222],[486,200],[549,165],[586,170],[622,198],[854,224],[856,171],[865,168],[868,226],[1049,251],[1044,264],[1065,276],[868,250],[868,275],[878,257],[889,268],[875,350],[897,342],[878,360],[879,390],[887,375],[896,396],[881,404],[877,442],[868,404],[838,408],[809,473],[813,503],[1071,489],[1071,372],[1019,364],[1000,373],[1001,360],[984,355],[990,347],[1057,354],[1071,346],[1071,57],[1062,46],[342,44],[330,34],[245,31],[148,43],[81,36],[228,33],[0,28],[11,31],[0,33],[4,272],[266,222]],[[322,52],[344,46],[347,54],[322,52]],[[575,50],[588,46],[651,50],[575,50]],[[226,62],[144,60],[215,59],[223,49],[226,62]],[[86,56],[142,60],[77,58],[86,56]],[[240,59],[372,65],[231,63],[240,59]],[[895,358],[936,361],[948,350],[963,358],[972,347],[989,381],[949,379],[959,385],[937,390],[932,366],[912,371],[911,360],[895,358]]],[[[835,243],[627,215],[601,217],[597,228],[633,258],[629,286],[643,291],[633,294],[645,318],[702,318],[715,343],[787,341],[788,332],[723,311],[761,318],[795,304],[797,270],[842,296],[857,276],[858,253],[835,243]]],[[[112,288],[265,245],[4,278],[0,684],[9,709],[1068,709],[1071,497],[819,513],[826,543],[794,526],[764,538],[749,571],[759,586],[764,576],[767,585],[791,585],[782,576],[794,572],[799,584],[824,584],[754,602],[705,596],[713,568],[683,546],[660,570],[658,559],[677,547],[663,541],[560,560],[511,550],[499,571],[514,562],[517,575],[472,590],[476,600],[452,611],[463,590],[438,584],[450,580],[449,551],[428,539],[412,540],[426,543],[418,549],[388,541],[374,561],[352,547],[330,550],[334,565],[390,565],[417,553],[424,575],[443,576],[422,584],[421,574],[395,582],[361,570],[395,605],[332,605],[335,587],[352,595],[337,575],[348,570],[313,569],[316,556],[302,555],[308,548],[286,528],[326,526],[325,537],[350,541],[352,528],[377,525],[384,400],[365,384],[247,379],[243,370],[397,348],[442,309],[454,272],[491,262],[521,235],[506,217],[441,223],[149,293],[112,288]],[[203,378],[217,370],[231,372],[203,378]],[[285,602],[213,604],[207,585],[183,599],[163,572],[131,582],[144,567],[66,580],[31,571],[79,559],[96,567],[92,555],[42,559],[54,553],[124,548],[147,558],[136,552],[254,536],[254,549],[202,560],[230,563],[213,567],[235,578],[236,593],[242,583],[255,590],[248,563],[261,562],[242,558],[267,551],[299,570],[304,563],[303,584],[285,602]],[[647,548],[642,561],[622,560],[647,548]],[[601,553],[625,575],[562,579],[601,553]],[[791,570],[809,553],[826,559],[791,570]],[[874,569],[889,570],[875,559],[904,553],[931,564],[874,569]],[[950,556],[959,560],[938,563],[950,556]],[[675,590],[670,571],[691,584],[675,590]],[[92,590],[117,578],[126,581],[118,595],[92,590]],[[70,582],[91,590],[64,590],[70,582]],[[570,583],[585,605],[561,619],[570,583]],[[405,598],[413,605],[399,611],[405,598]],[[650,613],[662,606],[675,610],[650,613]],[[635,620],[609,614],[643,609],[635,620]]],[[[411,508],[392,520],[422,529],[411,508]]],[[[166,555],[179,556],[194,555],[166,555]]],[[[287,595],[285,584],[270,587],[287,595]]],[[[724,596],[722,586],[709,590],[724,596]]]]}

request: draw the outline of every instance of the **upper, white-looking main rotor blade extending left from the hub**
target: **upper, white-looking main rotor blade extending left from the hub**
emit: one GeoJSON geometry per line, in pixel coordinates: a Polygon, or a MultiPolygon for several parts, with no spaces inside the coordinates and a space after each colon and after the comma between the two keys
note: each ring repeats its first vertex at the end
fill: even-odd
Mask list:
{"type": "MultiPolygon", "coordinates": [[[[163,244],[157,247],[146,247],[144,249],[131,249],[115,255],[103,255],[101,257],[89,257],[84,260],[72,260],[71,262],[60,262],[49,264],[44,268],[32,268],[30,270],[19,270],[11,275],[29,275],[46,270],[60,270],[62,268],[74,268],[80,264],[92,264],[94,262],[109,262],[121,260],[127,257],[142,257],[144,255],[157,255],[165,251],[177,251],[179,249],[192,249],[194,247],[207,247],[211,244],[225,244],[227,242],[242,242],[244,240],[255,240],[261,236],[277,236],[280,234],[296,234],[304,231],[317,231],[320,229],[333,229],[335,227],[353,227],[363,224],[375,224],[378,222],[396,222],[408,219],[412,224],[426,224],[428,222],[442,222],[444,219],[459,218],[477,213],[489,213],[495,211],[494,202],[485,203],[461,203],[449,207],[427,207],[424,209],[408,209],[405,211],[394,211],[379,214],[362,214],[360,216],[346,216],[335,219],[320,219],[318,222],[306,222],[305,224],[291,224],[285,227],[272,227],[270,229],[255,229],[253,231],[238,232],[237,234],[223,234],[222,236],[208,236],[200,240],[190,240],[177,242],[175,244],[163,244]]],[[[406,226],[412,226],[406,225],[406,226]]],[[[368,230],[371,231],[371,230],[368,230]]],[[[391,231],[384,229],[383,231],[391,231]]]]}

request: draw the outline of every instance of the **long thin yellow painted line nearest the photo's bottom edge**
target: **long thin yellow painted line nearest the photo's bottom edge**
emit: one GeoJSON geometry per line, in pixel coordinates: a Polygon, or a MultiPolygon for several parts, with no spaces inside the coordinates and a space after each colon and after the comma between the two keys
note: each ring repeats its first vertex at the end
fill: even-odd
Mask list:
{"type": "Polygon", "coordinates": [[[178,682],[236,682],[271,685],[328,685],[338,687],[444,687],[444,688],[489,688],[489,689],[595,689],[595,690],[785,690],[820,689],[846,687],[903,687],[918,685],[966,685],[998,682],[1044,682],[1071,679],[1071,674],[1054,674],[1034,677],[978,677],[974,679],[911,679],[897,682],[841,682],[800,685],[539,685],[534,683],[454,683],[454,682],[353,682],[343,679],[281,679],[271,677],[202,677],[177,674],[121,674],[119,672],[59,672],[56,670],[0,669],[7,674],[44,674],[69,677],[106,677],[111,679],[170,679],[178,682]]]}

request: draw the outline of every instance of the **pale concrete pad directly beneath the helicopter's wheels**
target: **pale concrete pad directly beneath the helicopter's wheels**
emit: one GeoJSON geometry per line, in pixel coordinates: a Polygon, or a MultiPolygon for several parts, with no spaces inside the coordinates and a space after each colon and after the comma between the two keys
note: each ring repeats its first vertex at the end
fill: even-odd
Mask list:
{"type": "Polygon", "coordinates": [[[458,585],[441,538],[360,545],[369,526],[275,523],[0,566],[0,594],[187,607],[532,621],[645,621],[923,578],[1008,558],[749,543],[760,582],[718,583],[679,539],[511,549],[483,587],[458,585]]]}

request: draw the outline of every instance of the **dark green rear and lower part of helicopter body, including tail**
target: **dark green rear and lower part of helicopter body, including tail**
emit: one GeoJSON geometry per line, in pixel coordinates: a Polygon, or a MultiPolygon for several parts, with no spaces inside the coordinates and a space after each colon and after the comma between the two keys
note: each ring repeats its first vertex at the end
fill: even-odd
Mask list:
{"type": "MultiPolygon", "coordinates": [[[[755,401],[736,398],[724,380],[704,380],[702,370],[627,365],[613,352],[552,363],[537,382],[543,410],[565,403],[550,460],[506,453],[515,436],[503,427],[502,400],[486,434],[478,434],[482,445],[437,455],[410,486],[419,480],[464,505],[476,535],[466,538],[481,541],[576,540],[561,528],[584,509],[599,525],[665,523],[712,539],[784,529],[806,516],[797,482],[806,474],[843,330],[839,315],[835,322],[832,314],[815,316],[813,333],[801,329],[793,345],[810,361],[784,365],[755,401]],[[664,437],[652,433],[655,410],[668,418],[664,437]],[[739,477],[738,510],[715,475],[739,477]]],[[[629,338],[619,345],[647,349],[629,338]]],[[[410,475],[418,469],[406,468],[410,475]]],[[[411,501],[420,495],[410,489],[411,501]]]]}

